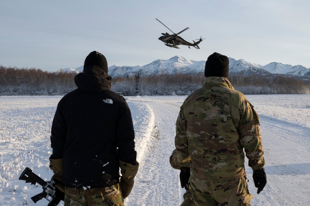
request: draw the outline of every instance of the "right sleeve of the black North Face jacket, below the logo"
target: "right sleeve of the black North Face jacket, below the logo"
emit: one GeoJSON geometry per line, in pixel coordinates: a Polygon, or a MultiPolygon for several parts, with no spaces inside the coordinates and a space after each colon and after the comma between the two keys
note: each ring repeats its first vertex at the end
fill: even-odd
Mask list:
{"type": "Polygon", "coordinates": [[[134,141],[135,131],[132,123],[131,111],[125,99],[120,103],[118,112],[116,126],[118,157],[123,162],[135,165],[137,158],[134,141]]]}

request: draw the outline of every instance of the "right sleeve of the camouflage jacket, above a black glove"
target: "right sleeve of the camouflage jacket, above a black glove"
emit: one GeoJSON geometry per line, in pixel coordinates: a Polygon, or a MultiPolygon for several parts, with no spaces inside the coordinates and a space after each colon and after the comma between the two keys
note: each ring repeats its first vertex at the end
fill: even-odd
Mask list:
{"type": "Polygon", "coordinates": [[[265,165],[259,125],[259,116],[250,102],[245,99],[240,107],[238,132],[241,146],[245,149],[246,157],[249,159],[249,166],[252,170],[260,170],[265,165]]]}

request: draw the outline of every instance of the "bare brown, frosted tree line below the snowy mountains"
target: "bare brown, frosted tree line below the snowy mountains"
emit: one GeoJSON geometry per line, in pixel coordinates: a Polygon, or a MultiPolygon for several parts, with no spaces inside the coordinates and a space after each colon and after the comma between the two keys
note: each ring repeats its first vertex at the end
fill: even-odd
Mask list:
{"type": "MultiPolygon", "coordinates": [[[[65,95],[75,90],[75,73],[0,66],[0,95],[65,95]]],[[[113,77],[112,77],[113,78],[113,77]]],[[[111,90],[135,95],[189,95],[202,86],[203,73],[116,77],[111,90]]],[[[310,94],[310,81],[283,75],[230,74],[229,81],[245,95],[310,94]]]]}

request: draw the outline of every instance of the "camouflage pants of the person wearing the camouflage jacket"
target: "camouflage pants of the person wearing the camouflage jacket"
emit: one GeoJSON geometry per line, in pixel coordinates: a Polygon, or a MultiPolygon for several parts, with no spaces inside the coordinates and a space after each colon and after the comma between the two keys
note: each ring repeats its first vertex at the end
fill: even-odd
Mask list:
{"type": "Polygon", "coordinates": [[[250,206],[246,176],[230,180],[208,180],[190,177],[194,206],[250,206]]]}

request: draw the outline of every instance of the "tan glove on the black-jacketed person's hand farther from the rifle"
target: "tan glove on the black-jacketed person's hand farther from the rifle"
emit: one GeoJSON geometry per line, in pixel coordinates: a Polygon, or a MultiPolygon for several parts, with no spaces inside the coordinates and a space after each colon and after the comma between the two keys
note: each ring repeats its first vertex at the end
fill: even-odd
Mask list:
{"type": "Polygon", "coordinates": [[[119,160],[119,166],[121,168],[121,188],[123,198],[125,199],[130,194],[132,187],[134,186],[134,178],[138,172],[139,162],[136,161],[136,165],[123,162],[119,160]]]}

